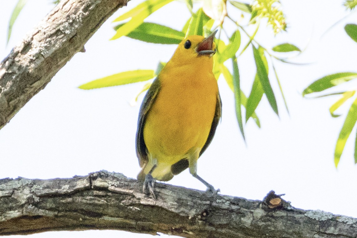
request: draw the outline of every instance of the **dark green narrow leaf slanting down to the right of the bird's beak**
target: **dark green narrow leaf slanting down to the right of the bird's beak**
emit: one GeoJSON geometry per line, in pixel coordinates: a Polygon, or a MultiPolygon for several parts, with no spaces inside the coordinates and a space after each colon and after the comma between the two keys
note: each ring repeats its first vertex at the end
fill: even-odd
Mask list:
{"type": "Polygon", "coordinates": [[[266,63],[264,62],[265,59],[264,53],[261,54],[261,52],[258,49],[256,49],[254,45],[252,46],[253,46],[253,55],[254,55],[255,64],[257,66],[257,75],[260,79],[265,95],[268,98],[268,102],[270,103],[270,106],[273,108],[273,111],[276,113],[276,115],[279,116],[275,95],[273,89],[271,88],[268,78],[266,63]]]}

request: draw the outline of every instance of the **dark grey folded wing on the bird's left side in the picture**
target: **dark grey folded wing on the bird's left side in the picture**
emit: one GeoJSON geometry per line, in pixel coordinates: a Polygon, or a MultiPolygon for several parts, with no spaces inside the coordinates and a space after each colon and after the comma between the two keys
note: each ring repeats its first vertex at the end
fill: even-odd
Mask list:
{"type": "Polygon", "coordinates": [[[150,107],[155,101],[156,95],[160,89],[160,82],[158,78],[152,82],[149,90],[146,92],[144,99],[142,100],[139,119],[137,121],[137,131],[136,131],[136,155],[139,159],[140,167],[145,166],[148,161],[146,145],[144,141],[144,125],[147,112],[149,112],[150,107]]]}

